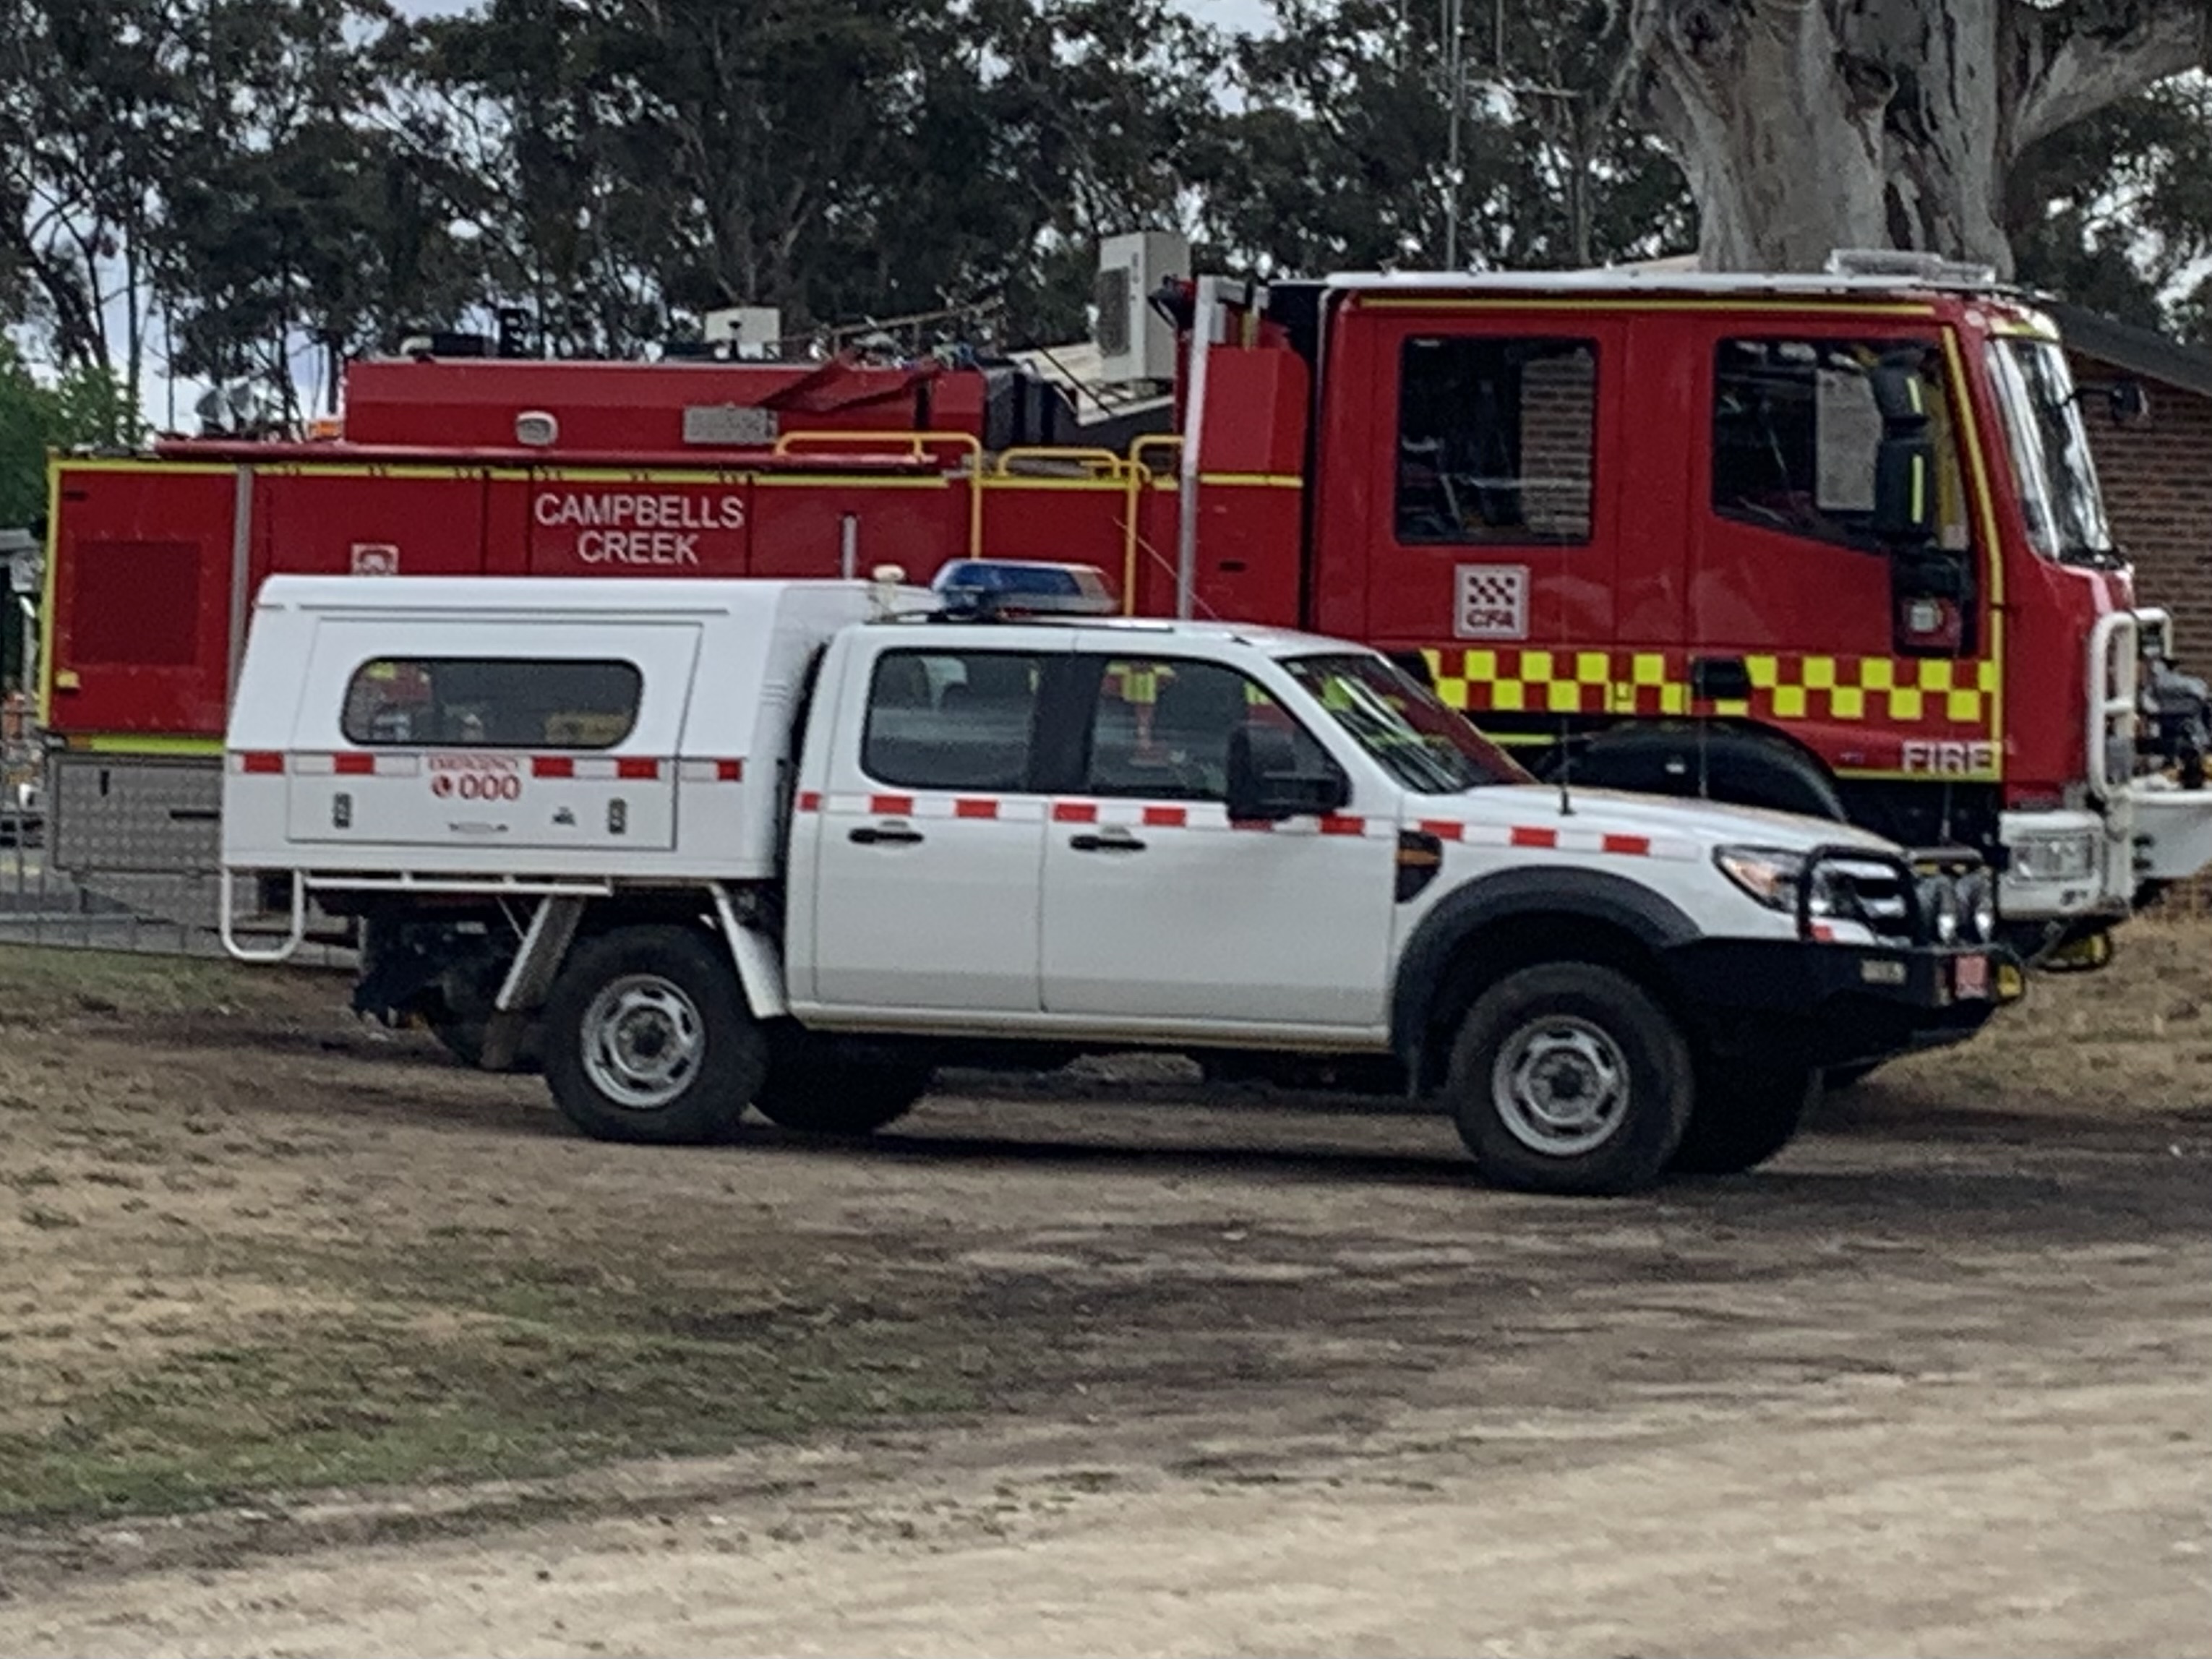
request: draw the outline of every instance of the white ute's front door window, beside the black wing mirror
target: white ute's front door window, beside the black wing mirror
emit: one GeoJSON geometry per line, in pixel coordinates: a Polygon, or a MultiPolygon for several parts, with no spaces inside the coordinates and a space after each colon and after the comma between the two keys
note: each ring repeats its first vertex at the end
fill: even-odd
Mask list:
{"type": "Polygon", "coordinates": [[[1327,750],[1290,710],[1234,668],[1170,657],[1110,659],[1099,677],[1079,792],[1225,801],[1230,739],[1245,726],[1287,728],[1301,770],[1334,770],[1327,750]]]}

